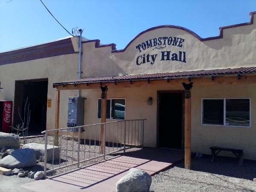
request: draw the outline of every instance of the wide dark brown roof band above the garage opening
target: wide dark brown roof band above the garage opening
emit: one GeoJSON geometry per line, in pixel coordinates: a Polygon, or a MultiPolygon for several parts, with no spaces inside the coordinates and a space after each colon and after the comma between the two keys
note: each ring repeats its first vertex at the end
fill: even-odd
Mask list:
{"type": "Polygon", "coordinates": [[[0,65],[76,53],[71,38],[0,53],[0,65]]]}

